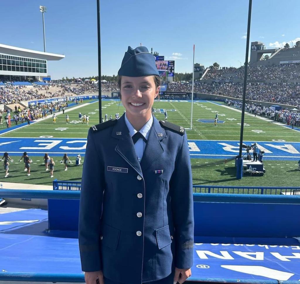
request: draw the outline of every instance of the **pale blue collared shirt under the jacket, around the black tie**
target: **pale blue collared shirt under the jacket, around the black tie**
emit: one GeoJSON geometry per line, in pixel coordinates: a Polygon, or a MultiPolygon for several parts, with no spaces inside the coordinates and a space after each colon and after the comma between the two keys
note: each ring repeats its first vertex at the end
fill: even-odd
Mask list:
{"type": "MultiPolygon", "coordinates": [[[[126,116],[126,113],[125,113],[125,123],[126,126],[128,127],[131,137],[134,136],[134,134],[136,134],[138,131],[134,129],[134,127],[132,126],[132,124],[130,123],[130,121],[126,116]]],[[[151,115],[150,119],[139,131],[146,138],[146,140],[148,140],[152,123],[153,123],[153,116],[151,115]]],[[[139,162],[141,162],[142,160],[145,147],[146,147],[146,142],[142,138],[137,140],[136,144],[134,144],[135,152],[137,153],[137,159],[139,162]]]]}

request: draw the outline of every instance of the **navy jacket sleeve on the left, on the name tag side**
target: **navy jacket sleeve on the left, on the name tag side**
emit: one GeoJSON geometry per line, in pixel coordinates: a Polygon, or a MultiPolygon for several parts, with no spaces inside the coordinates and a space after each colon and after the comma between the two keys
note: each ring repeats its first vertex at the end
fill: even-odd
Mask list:
{"type": "Polygon", "coordinates": [[[104,191],[104,162],[90,129],[85,150],[79,205],[79,251],[82,271],[102,270],[101,213],[104,191]]]}

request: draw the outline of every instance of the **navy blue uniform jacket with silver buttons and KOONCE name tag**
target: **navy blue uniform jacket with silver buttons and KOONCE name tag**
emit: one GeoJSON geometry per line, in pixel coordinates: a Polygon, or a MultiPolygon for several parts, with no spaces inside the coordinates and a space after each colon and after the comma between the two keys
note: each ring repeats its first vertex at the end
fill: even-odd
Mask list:
{"type": "Polygon", "coordinates": [[[124,115],[90,128],[79,212],[82,271],[140,284],[192,266],[187,135],[164,124],[153,118],[140,163],[124,115]]]}

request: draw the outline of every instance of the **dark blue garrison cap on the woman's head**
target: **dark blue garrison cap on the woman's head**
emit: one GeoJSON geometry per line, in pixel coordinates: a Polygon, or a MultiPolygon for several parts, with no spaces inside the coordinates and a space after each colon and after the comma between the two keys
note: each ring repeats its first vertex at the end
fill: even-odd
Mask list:
{"type": "Polygon", "coordinates": [[[155,57],[149,53],[145,46],[139,46],[136,49],[129,46],[123,57],[118,75],[128,77],[159,76],[155,65],[155,57]]]}

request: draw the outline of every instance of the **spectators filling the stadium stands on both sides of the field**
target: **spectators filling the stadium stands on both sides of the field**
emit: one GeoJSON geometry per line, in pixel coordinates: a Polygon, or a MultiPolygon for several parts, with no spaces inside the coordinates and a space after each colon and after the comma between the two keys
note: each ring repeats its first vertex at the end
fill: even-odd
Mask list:
{"type": "MultiPolygon", "coordinates": [[[[204,79],[216,79],[220,82],[196,80],[194,83],[195,93],[207,93],[215,95],[226,95],[232,98],[241,98],[243,93],[242,82],[232,82],[233,79],[243,79],[244,67],[240,68],[211,68],[204,79]],[[225,81],[227,80],[227,82],[225,81]]],[[[286,64],[278,66],[257,66],[248,68],[249,80],[277,80],[277,82],[249,82],[247,83],[247,99],[255,101],[269,101],[273,103],[289,104],[300,107],[300,82],[286,82],[282,80],[300,80],[300,65],[286,64]]],[[[102,92],[118,92],[116,81],[102,82],[102,92]]],[[[191,82],[168,83],[167,91],[185,92],[192,91],[191,82]]],[[[52,81],[51,86],[35,85],[32,87],[13,86],[6,83],[0,86],[0,104],[14,104],[19,101],[43,99],[47,97],[67,97],[70,95],[84,95],[98,93],[98,84],[79,83],[73,81],[52,81]]],[[[167,99],[188,99],[189,95],[161,95],[167,99]],[[185,96],[185,98],[184,98],[185,96]]]]}

